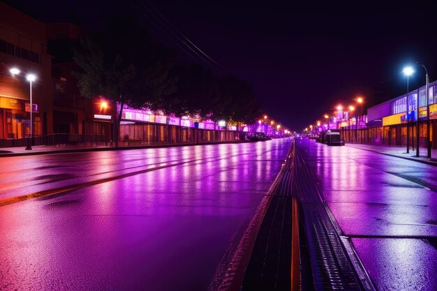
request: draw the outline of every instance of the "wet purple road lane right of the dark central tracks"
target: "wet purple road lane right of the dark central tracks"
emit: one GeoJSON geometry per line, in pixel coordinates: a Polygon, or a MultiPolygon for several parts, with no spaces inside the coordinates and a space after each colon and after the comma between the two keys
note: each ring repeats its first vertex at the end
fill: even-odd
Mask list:
{"type": "Polygon", "coordinates": [[[343,235],[378,290],[437,290],[437,167],[301,140],[343,235]]]}

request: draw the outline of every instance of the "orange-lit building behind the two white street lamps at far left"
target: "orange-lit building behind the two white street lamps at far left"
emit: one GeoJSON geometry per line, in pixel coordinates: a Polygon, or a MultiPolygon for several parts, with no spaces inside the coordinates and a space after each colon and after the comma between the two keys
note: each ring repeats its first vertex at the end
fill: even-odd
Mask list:
{"type": "Polygon", "coordinates": [[[45,24],[0,2],[0,143],[5,146],[28,137],[31,122],[33,136],[53,132],[46,33],[45,24]],[[11,74],[11,68],[20,73],[11,74]],[[36,75],[31,86],[26,79],[30,73],[36,75]]]}

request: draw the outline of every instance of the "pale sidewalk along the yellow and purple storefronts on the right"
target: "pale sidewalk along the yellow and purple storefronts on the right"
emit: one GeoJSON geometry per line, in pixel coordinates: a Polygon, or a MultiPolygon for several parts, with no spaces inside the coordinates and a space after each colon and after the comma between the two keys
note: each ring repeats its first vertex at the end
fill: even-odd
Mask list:
{"type": "Polygon", "coordinates": [[[405,158],[410,161],[417,161],[420,163],[426,163],[428,165],[437,165],[437,149],[431,149],[431,158],[427,158],[428,149],[426,147],[419,148],[419,156],[416,156],[416,148],[410,147],[410,152],[407,154],[406,146],[387,146],[376,144],[353,144],[346,143],[347,147],[355,147],[357,149],[364,149],[366,151],[374,151],[379,154],[385,154],[387,156],[396,156],[399,158],[405,158]]]}

